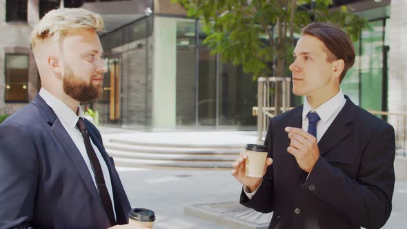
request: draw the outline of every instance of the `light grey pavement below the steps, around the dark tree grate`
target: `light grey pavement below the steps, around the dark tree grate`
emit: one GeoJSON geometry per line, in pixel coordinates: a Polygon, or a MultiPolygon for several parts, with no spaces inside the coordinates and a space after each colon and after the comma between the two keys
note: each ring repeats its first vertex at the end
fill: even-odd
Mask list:
{"type": "MultiPolygon", "coordinates": [[[[229,170],[119,168],[132,207],[156,212],[155,229],[231,229],[184,215],[184,208],[204,203],[238,201],[240,184],[229,170]]],[[[384,228],[407,228],[407,182],[396,181],[393,213],[384,228]]]]}

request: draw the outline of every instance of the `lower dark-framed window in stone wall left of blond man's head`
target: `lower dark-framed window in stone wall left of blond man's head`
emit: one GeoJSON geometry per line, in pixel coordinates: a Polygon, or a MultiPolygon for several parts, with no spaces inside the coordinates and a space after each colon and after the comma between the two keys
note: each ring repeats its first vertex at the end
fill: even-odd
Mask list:
{"type": "Polygon", "coordinates": [[[28,101],[28,55],[6,54],[5,101],[28,101]]]}

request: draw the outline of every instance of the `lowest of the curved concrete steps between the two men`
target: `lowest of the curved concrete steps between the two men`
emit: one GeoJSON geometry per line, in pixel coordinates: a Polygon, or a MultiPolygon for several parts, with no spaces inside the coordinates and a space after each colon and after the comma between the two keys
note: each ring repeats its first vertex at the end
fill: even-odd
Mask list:
{"type": "Polygon", "coordinates": [[[176,161],[176,160],[147,160],[114,157],[115,166],[123,167],[172,167],[172,168],[231,168],[230,162],[224,161],[176,161]]]}

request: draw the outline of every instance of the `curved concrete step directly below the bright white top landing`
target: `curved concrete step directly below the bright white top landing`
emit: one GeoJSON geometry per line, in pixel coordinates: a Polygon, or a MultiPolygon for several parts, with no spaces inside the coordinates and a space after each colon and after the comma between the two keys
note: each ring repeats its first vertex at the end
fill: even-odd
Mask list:
{"type": "Polygon", "coordinates": [[[164,147],[164,146],[140,146],[133,143],[118,143],[117,141],[106,142],[104,146],[108,150],[119,150],[123,152],[146,152],[175,155],[237,155],[244,148],[185,148],[185,147],[164,147]]]}

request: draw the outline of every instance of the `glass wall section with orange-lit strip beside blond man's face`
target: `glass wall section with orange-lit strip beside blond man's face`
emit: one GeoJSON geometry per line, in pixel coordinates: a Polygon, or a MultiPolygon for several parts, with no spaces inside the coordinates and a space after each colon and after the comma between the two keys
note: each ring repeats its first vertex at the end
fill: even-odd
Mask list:
{"type": "Polygon", "coordinates": [[[130,23],[101,35],[108,72],[103,96],[92,103],[99,123],[124,128],[150,128],[152,18],[130,23]],[[147,29],[148,28],[148,29],[147,29]]]}

